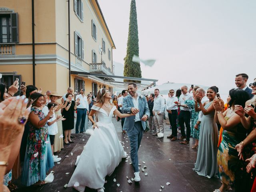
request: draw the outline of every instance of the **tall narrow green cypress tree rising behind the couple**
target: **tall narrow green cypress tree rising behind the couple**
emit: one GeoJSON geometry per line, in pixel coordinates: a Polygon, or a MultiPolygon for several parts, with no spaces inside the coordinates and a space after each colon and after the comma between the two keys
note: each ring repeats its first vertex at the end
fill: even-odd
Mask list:
{"type": "MultiPolygon", "coordinates": [[[[132,62],[132,57],[139,56],[139,37],[136,2],[131,0],[130,22],[127,41],[126,57],[124,58],[124,76],[141,78],[140,63],[132,62]]],[[[134,80],[124,79],[124,82],[139,82],[134,80]]]]}

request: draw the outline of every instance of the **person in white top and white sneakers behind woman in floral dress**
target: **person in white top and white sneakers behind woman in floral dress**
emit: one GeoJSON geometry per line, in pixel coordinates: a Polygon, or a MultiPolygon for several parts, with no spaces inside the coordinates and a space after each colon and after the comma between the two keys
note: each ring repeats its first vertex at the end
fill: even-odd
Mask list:
{"type": "MultiPolygon", "coordinates": [[[[58,104],[50,102],[50,103],[48,103],[47,107],[48,107],[49,111],[51,108],[53,108],[53,110],[55,111],[55,110],[57,110],[58,104]]],[[[50,118],[47,122],[50,143],[51,143],[51,148],[52,148],[52,158],[53,158],[54,162],[59,162],[61,160],[61,158],[58,158],[58,156],[54,156],[54,154],[53,154],[54,138],[55,138],[56,134],[58,133],[57,122],[60,120],[62,120],[61,115],[56,116],[55,114],[53,114],[52,118],[50,118]]]]}

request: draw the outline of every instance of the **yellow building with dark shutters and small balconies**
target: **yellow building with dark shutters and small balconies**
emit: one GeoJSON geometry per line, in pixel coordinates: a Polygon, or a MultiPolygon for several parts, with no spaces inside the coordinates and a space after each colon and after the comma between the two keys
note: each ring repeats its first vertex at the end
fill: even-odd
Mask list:
{"type": "MultiPolygon", "coordinates": [[[[38,88],[66,93],[69,86],[68,1],[0,0],[0,73],[8,86],[16,79],[38,88]]],[[[97,0],[70,0],[71,87],[86,93],[112,86],[96,76],[74,72],[112,73],[114,42],[97,0]]],[[[104,78],[104,79],[103,79],[104,78]]]]}

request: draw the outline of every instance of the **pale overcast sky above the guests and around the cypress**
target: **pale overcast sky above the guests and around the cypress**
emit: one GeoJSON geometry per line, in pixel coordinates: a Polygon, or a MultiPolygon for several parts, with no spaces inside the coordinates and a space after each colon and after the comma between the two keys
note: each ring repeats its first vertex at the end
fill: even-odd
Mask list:
{"type": "MultiPolygon", "coordinates": [[[[98,0],[116,45],[113,60],[124,64],[130,0],[98,0]]],[[[255,0],[137,0],[142,77],[165,82],[235,87],[238,73],[256,78],[255,0]]]]}

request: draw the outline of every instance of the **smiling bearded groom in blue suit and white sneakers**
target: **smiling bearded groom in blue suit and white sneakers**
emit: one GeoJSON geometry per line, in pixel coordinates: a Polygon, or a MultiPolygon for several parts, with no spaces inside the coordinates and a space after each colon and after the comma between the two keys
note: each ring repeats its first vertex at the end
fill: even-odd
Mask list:
{"type": "Polygon", "coordinates": [[[138,149],[142,139],[143,130],[146,129],[146,120],[150,116],[148,103],[144,96],[138,95],[135,83],[128,84],[128,92],[130,95],[123,99],[122,113],[133,113],[135,116],[126,117],[124,127],[130,140],[131,159],[134,168],[134,181],[140,181],[138,149]]]}

